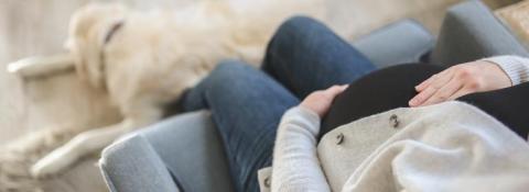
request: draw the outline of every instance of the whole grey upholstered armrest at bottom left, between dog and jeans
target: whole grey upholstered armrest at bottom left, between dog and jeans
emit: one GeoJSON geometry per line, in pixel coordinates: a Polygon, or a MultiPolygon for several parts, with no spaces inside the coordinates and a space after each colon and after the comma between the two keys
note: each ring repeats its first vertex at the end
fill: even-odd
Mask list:
{"type": "Polygon", "coordinates": [[[233,191],[222,140],[207,111],[132,133],[107,147],[99,165],[110,191],[233,191]]]}

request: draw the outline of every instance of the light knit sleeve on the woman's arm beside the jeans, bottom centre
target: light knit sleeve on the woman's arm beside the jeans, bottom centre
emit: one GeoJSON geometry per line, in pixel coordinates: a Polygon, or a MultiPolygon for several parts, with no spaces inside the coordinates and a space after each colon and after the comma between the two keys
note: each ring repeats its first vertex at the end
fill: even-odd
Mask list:
{"type": "Polygon", "coordinates": [[[316,155],[320,117],[302,106],[290,109],[278,128],[272,192],[331,191],[316,155]]]}

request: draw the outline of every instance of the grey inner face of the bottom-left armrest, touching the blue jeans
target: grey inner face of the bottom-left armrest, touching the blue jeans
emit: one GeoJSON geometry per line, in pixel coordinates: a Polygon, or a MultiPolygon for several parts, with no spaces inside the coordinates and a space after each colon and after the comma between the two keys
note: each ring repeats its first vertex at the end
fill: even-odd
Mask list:
{"type": "Polygon", "coordinates": [[[144,128],[182,191],[231,192],[229,165],[208,111],[180,114],[144,128]]]}

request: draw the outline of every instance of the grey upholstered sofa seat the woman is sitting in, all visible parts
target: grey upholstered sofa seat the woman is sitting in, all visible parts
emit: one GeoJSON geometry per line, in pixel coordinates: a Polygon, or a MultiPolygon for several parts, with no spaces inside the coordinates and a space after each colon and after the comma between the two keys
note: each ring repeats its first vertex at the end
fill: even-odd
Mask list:
{"type": "MultiPolygon", "coordinates": [[[[452,65],[528,52],[481,1],[449,10],[438,41],[417,22],[385,26],[352,44],[379,67],[452,65]]],[[[226,156],[207,111],[181,114],[107,147],[100,169],[110,191],[234,191],[226,156]]]]}

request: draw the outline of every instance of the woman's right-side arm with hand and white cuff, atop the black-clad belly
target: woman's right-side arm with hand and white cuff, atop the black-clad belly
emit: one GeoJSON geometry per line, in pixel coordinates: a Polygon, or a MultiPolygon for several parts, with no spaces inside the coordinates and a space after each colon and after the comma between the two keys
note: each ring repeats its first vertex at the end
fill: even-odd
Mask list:
{"type": "Polygon", "coordinates": [[[435,104],[465,94],[493,91],[529,81],[529,59],[498,56],[452,66],[415,87],[410,106],[435,104]]]}

